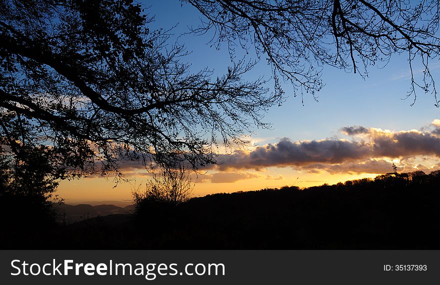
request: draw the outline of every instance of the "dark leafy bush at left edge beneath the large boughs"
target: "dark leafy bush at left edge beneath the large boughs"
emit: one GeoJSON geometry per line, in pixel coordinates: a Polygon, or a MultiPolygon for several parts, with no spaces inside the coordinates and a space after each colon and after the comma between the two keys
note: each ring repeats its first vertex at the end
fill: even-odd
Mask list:
{"type": "Polygon", "coordinates": [[[40,233],[54,227],[59,218],[53,202],[61,200],[57,195],[52,196],[58,182],[47,160],[40,159],[39,151],[28,151],[22,163],[0,155],[0,215],[3,217],[0,241],[3,248],[37,244],[44,236],[40,233]]]}

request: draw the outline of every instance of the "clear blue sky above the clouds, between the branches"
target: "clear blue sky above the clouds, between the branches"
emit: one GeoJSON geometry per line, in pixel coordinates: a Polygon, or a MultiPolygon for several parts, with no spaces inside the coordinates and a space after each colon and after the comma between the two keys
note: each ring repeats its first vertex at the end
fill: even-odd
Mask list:
{"type": "MultiPolygon", "coordinates": [[[[202,17],[190,4],[181,6],[178,0],[144,3],[150,5],[148,13],[155,15],[151,27],[177,25],[173,30],[175,37],[187,32],[188,26],[197,26],[202,17]]],[[[186,60],[191,62],[193,70],[207,66],[221,73],[230,62],[225,46],[220,50],[209,47],[211,35],[187,34],[178,38],[179,43],[192,51],[186,60]]],[[[432,71],[437,73],[435,68],[432,71]]],[[[303,106],[299,96],[290,95],[282,106],[273,106],[266,114],[265,119],[272,123],[272,130],[255,130],[256,137],[268,137],[273,141],[284,136],[292,140],[320,139],[339,135],[339,128],[347,125],[393,130],[420,128],[437,118],[440,109],[433,105],[432,95],[421,90],[413,106],[410,106],[412,98],[402,100],[409,89],[408,72],[405,54],[394,55],[384,68],[370,66],[369,77],[365,80],[358,74],[325,66],[322,72],[325,87],[316,94],[318,102],[304,94],[303,106]]],[[[263,60],[248,74],[249,79],[259,75],[270,77],[270,68],[263,60]]],[[[289,84],[284,85],[284,90],[286,94],[292,93],[289,84]]]]}

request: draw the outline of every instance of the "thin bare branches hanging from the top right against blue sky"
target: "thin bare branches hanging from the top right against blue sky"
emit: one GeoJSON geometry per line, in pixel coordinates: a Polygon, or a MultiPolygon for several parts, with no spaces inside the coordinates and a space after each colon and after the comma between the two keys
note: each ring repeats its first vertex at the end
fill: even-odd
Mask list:
{"type": "Polygon", "coordinates": [[[407,53],[411,72],[407,96],[416,87],[438,99],[428,63],[437,58],[440,5],[436,0],[185,0],[206,18],[196,33],[215,28],[219,46],[229,52],[255,47],[272,67],[275,89],[281,79],[314,94],[323,82],[320,71],[331,65],[367,76],[366,68],[407,53]],[[414,79],[419,57],[423,79],[414,79]]]}

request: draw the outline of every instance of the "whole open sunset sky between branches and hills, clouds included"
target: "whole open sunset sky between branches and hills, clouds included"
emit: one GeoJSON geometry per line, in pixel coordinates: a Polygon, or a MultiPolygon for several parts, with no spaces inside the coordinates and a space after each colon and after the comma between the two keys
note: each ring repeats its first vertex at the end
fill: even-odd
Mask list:
{"type": "MultiPolygon", "coordinates": [[[[142,2],[141,2],[142,3],[142,2]]],[[[196,26],[200,14],[178,0],[146,1],[146,11],[155,15],[150,28],[171,28],[177,40],[191,53],[185,58],[193,70],[204,67],[224,72],[229,55],[224,46],[209,46],[211,34],[180,34],[196,26]]],[[[251,55],[250,55],[251,56],[251,55]]],[[[379,66],[382,67],[382,66],[379,66]]],[[[433,62],[431,72],[439,78],[440,64],[433,62]]],[[[421,72],[415,68],[415,76],[421,72]]],[[[292,87],[284,84],[288,98],[273,106],[264,121],[270,129],[254,129],[250,147],[219,154],[218,165],[199,169],[192,175],[193,196],[215,192],[256,190],[264,187],[296,185],[300,187],[333,184],[338,181],[374,177],[397,171],[440,168],[440,109],[429,93],[418,91],[403,99],[409,89],[409,68],[405,55],[395,55],[384,68],[371,66],[368,78],[324,67],[325,87],[317,101],[305,94],[292,96],[292,87]]],[[[259,62],[247,75],[270,77],[270,68],[259,62]]],[[[131,201],[131,191],[142,190],[150,177],[139,165],[122,165],[130,182],[115,184],[112,177],[85,177],[61,181],[58,195],[66,203],[84,201],[131,201]]]]}

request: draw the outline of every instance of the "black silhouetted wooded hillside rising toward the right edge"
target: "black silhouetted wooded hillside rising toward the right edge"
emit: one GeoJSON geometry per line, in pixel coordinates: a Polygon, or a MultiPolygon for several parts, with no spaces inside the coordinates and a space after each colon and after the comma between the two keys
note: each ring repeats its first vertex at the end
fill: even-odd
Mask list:
{"type": "Polygon", "coordinates": [[[439,248],[439,186],[440,171],[416,171],[193,198],[163,247],[439,248]]]}

